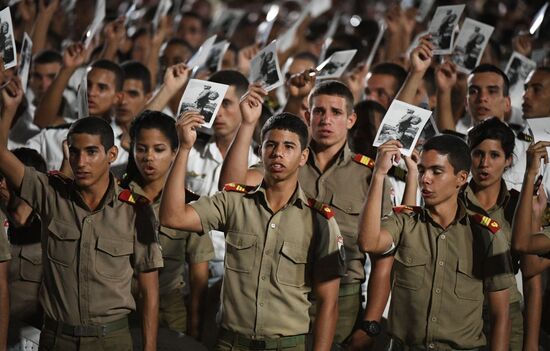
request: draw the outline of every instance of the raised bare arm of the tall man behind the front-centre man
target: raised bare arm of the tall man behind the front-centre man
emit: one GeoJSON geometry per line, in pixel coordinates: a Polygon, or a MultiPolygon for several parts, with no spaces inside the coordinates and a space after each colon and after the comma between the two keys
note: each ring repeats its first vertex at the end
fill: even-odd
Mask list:
{"type": "Polygon", "coordinates": [[[227,150],[218,180],[221,190],[227,183],[260,184],[263,175],[257,171],[248,171],[248,152],[252,143],[254,129],[262,114],[262,102],[267,95],[259,84],[251,84],[239,105],[243,120],[233,143],[227,150]]]}

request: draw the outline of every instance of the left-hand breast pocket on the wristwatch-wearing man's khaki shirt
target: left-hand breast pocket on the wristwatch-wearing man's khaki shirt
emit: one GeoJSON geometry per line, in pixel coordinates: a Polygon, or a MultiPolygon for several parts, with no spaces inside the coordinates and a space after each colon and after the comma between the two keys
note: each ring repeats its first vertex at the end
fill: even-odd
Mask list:
{"type": "Polygon", "coordinates": [[[418,290],[424,282],[428,255],[421,255],[412,248],[401,248],[395,254],[394,284],[409,290],[418,290]]]}

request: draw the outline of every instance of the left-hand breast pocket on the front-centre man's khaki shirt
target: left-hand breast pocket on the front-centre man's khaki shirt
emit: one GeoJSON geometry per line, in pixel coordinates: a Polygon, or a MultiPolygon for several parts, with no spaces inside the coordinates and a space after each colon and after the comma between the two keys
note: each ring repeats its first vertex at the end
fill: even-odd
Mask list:
{"type": "Polygon", "coordinates": [[[225,237],[226,253],[225,265],[227,269],[250,273],[256,258],[256,241],[253,234],[237,233],[229,231],[225,237]]]}

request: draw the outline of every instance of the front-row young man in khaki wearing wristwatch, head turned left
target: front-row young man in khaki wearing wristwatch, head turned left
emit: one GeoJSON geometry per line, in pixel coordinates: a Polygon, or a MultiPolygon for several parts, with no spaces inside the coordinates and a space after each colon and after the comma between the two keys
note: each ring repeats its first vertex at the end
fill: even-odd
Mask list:
{"type": "Polygon", "coordinates": [[[383,180],[400,147],[389,141],[378,149],[359,231],[362,250],[395,257],[390,349],[482,347],[484,297],[491,348],[508,349],[511,257],[499,224],[469,213],[459,200],[471,164],[468,146],[450,135],[424,144],[418,170],[425,207],[396,208],[380,220],[383,180]]]}

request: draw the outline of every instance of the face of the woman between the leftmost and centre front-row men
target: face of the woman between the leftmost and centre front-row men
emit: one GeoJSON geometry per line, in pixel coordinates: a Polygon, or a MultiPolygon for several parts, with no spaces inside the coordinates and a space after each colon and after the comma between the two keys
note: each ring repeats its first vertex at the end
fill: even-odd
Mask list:
{"type": "Polygon", "coordinates": [[[134,143],[134,159],[146,183],[164,179],[176,156],[170,140],[158,129],[141,129],[134,143]]]}

